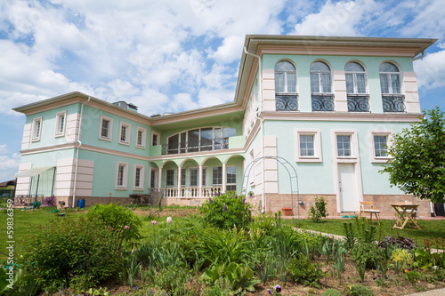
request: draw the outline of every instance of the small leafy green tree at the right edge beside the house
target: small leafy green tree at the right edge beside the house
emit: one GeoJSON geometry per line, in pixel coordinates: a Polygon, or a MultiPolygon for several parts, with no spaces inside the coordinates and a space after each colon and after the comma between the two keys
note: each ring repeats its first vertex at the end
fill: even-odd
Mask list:
{"type": "Polygon", "coordinates": [[[380,172],[389,173],[392,186],[434,204],[445,202],[445,118],[438,107],[394,135],[388,152],[393,158],[380,172]]]}

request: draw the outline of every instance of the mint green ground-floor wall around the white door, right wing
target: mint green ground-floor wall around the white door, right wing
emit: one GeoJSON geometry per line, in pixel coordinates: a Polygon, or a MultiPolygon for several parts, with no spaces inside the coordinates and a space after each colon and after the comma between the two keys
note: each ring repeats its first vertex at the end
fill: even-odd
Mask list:
{"type": "MultiPolygon", "coordinates": [[[[335,194],[335,156],[333,130],[355,130],[359,140],[359,157],[363,194],[402,194],[398,188],[390,188],[388,177],[378,171],[382,164],[371,163],[369,130],[401,132],[409,126],[404,123],[366,123],[366,122],[317,122],[317,121],[266,121],[266,135],[277,136],[278,155],[294,165],[298,174],[301,194],[335,194]],[[319,129],[322,163],[297,163],[295,155],[295,130],[319,129]]],[[[279,193],[290,190],[287,171],[279,165],[279,193]]]]}

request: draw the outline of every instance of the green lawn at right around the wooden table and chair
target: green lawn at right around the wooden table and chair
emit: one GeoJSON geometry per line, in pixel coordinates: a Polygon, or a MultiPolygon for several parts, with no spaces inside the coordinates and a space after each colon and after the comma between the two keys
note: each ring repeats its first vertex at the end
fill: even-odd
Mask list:
{"type": "MultiPolygon", "coordinates": [[[[309,219],[283,220],[298,228],[311,229],[339,236],[344,236],[344,223],[353,223],[353,219],[325,219],[314,223],[309,219]]],[[[445,220],[417,220],[421,229],[405,227],[403,229],[392,228],[395,220],[380,220],[380,224],[374,222],[377,230],[377,239],[384,236],[402,236],[412,238],[417,244],[422,244],[426,238],[445,237],[445,220]]]]}

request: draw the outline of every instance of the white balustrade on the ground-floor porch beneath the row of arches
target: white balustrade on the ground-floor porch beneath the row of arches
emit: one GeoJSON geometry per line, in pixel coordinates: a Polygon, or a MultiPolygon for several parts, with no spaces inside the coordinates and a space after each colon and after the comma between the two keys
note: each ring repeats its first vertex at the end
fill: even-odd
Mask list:
{"type": "Polygon", "coordinates": [[[161,192],[162,198],[208,198],[223,193],[221,186],[182,187],[178,190],[176,187],[153,188],[151,191],[161,192]]]}

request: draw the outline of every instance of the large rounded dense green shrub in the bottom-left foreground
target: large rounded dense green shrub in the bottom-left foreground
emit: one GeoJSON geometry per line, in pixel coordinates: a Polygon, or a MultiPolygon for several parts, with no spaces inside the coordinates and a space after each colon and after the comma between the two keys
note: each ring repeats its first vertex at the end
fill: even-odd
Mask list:
{"type": "Polygon", "coordinates": [[[115,274],[122,261],[118,243],[99,220],[57,219],[35,231],[20,263],[44,289],[72,284],[82,290],[115,274]]]}

